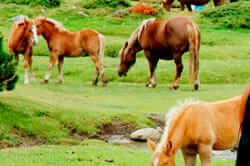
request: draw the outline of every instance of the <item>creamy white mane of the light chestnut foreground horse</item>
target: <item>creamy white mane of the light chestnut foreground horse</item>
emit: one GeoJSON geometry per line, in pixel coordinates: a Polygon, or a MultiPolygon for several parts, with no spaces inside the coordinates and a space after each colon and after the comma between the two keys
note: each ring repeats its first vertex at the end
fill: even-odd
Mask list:
{"type": "Polygon", "coordinates": [[[195,100],[195,99],[186,99],[184,101],[179,102],[179,104],[169,109],[168,113],[165,116],[164,132],[163,132],[163,135],[161,137],[159,144],[157,145],[155,153],[159,153],[162,151],[164,144],[167,141],[169,127],[172,124],[173,119],[175,119],[175,117],[183,110],[184,107],[191,105],[191,104],[198,104],[201,102],[202,101],[195,100]]]}

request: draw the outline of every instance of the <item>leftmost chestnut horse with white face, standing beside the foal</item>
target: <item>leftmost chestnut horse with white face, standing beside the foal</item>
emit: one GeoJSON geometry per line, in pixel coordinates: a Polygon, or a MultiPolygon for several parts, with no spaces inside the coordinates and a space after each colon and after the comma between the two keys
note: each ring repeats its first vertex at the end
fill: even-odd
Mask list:
{"type": "Polygon", "coordinates": [[[36,27],[32,20],[23,19],[13,24],[8,40],[8,49],[10,54],[14,54],[17,61],[19,54],[24,55],[25,84],[35,79],[32,74],[32,45],[37,43],[36,27]]]}

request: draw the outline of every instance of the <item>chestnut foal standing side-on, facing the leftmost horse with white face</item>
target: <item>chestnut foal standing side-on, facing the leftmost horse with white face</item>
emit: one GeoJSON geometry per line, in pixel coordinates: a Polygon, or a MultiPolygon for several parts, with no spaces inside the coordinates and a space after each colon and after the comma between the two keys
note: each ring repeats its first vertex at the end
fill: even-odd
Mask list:
{"type": "Polygon", "coordinates": [[[93,85],[97,85],[100,73],[103,85],[106,85],[107,78],[104,73],[102,61],[105,47],[103,35],[91,29],[70,32],[64,29],[60,23],[46,17],[38,17],[34,21],[37,27],[37,34],[42,35],[47,41],[51,53],[48,73],[45,75],[44,83],[48,83],[56,60],[58,60],[59,73],[57,83],[62,83],[64,57],[89,55],[96,65],[96,75],[93,85]]]}

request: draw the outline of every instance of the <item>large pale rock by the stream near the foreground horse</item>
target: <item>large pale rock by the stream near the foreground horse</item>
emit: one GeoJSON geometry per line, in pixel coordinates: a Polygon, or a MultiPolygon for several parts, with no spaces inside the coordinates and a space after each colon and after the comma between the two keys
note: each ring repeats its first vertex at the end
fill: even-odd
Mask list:
{"type": "Polygon", "coordinates": [[[130,139],[135,141],[147,141],[149,138],[158,141],[161,138],[161,132],[154,128],[144,128],[130,135],[130,139]]]}

